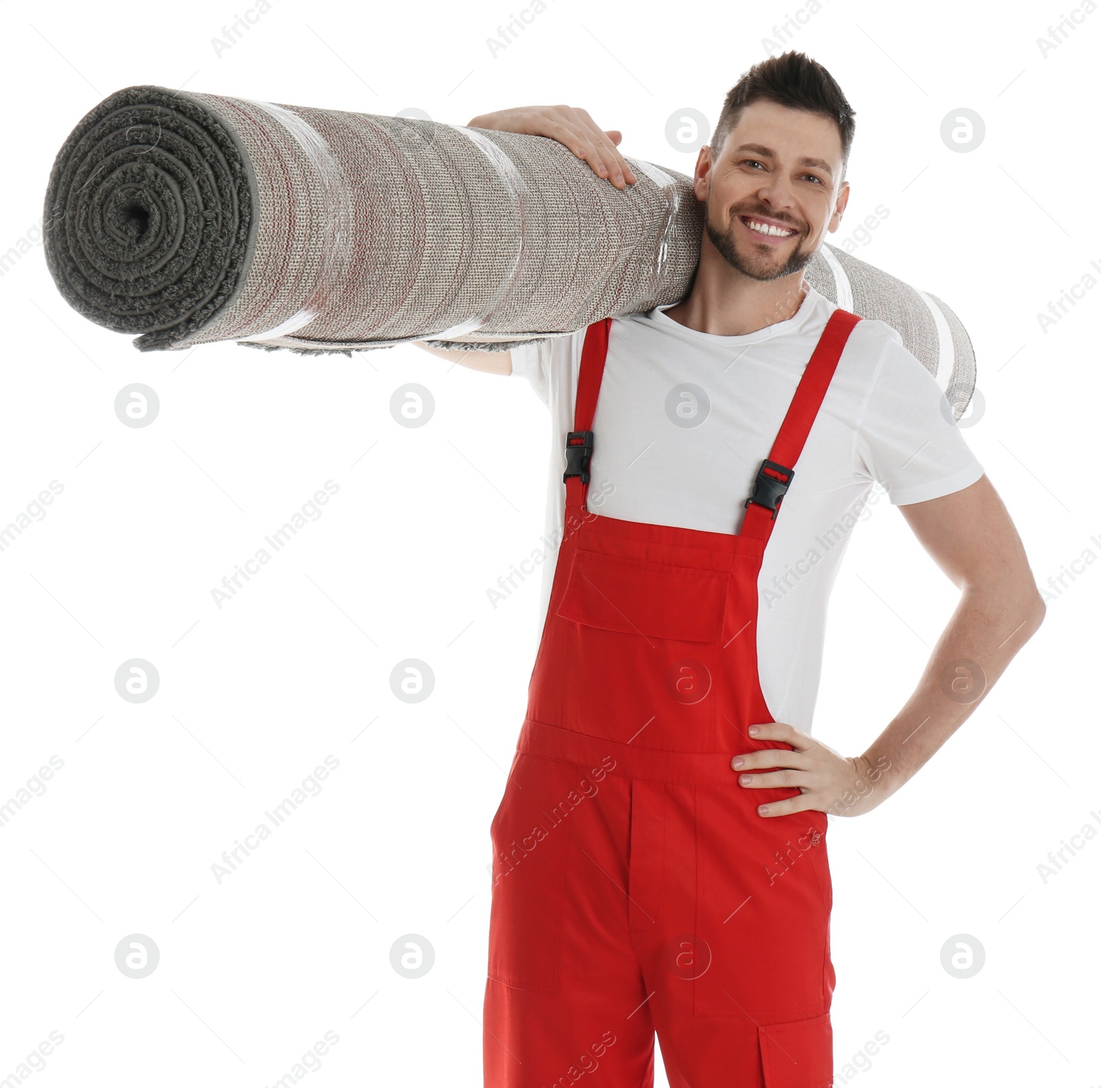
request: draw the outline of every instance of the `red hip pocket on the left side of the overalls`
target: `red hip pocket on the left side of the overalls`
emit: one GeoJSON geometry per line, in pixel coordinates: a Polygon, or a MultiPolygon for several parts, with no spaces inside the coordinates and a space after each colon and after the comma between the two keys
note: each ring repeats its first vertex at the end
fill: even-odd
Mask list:
{"type": "Polygon", "coordinates": [[[555,815],[564,765],[517,752],[490,827],[489,977],[520,990],[558,992],[570,835],[570,820],[555,815]]]}

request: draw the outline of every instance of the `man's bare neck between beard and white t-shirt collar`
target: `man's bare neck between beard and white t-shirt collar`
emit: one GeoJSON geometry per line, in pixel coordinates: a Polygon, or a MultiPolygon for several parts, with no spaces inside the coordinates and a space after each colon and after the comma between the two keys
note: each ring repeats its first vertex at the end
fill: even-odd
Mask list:
{"type": "Polygon", "coordinates": [[[745,336],[794,317],[809,291],[802,271],[761,281],[723,264],[711,275],[701,266],[689,295],[663,313],[698,333],[745,336]]]}

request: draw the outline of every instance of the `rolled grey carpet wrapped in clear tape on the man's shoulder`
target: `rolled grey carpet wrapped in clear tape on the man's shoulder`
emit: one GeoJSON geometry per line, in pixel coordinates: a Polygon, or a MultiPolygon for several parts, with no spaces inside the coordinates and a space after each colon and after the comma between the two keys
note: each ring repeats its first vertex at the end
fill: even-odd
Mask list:
{"type": "MultiPolygon", "coordinates": [[[[691,182],[628,161],[617,189],[544,137],[127,87],[57,153],[46,262],[142,351],[504,349],[691,289],[691,182]]],[[[942,302],[828,243],[806,276],[896,328],[962,414],[974,353],[942,302]]]]}

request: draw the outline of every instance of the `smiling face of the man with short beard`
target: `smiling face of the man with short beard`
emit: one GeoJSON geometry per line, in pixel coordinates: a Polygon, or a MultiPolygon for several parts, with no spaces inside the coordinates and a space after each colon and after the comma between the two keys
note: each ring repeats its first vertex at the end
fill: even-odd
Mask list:
{"type": "Polygon", "coordinates": [[[700,149],[695,187],[711,243],[752,280],[800,272],[848,203],[841,172],[841,133],[828,117],[751,102],[718,160],[700,149]]]}

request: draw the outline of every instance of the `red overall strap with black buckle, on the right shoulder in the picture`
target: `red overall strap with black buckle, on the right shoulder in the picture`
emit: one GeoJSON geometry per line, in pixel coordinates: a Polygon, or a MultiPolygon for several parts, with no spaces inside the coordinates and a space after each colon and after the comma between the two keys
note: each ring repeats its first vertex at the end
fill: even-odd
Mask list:
{"type": "Polygon", "coordinates": [[[860,318],[847,309],[835,309],[803,371],[799,384],[780,425],[772,451],[761,463],[753,494],[745,500],[745,516],[739,535],[767,542],[810,427],[818,415],[849,334],[860,318]]]}

